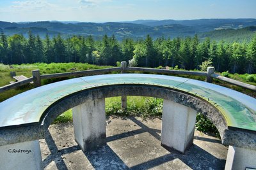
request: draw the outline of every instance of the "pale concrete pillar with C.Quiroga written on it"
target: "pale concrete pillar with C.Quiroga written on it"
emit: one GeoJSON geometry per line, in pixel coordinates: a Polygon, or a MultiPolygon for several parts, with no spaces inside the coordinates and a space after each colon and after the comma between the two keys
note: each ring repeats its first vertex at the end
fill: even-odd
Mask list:
{"type": "Polygon", "coordinates": [[[43,169],[39,141],[0,146],[0,169],[43,169]]]}

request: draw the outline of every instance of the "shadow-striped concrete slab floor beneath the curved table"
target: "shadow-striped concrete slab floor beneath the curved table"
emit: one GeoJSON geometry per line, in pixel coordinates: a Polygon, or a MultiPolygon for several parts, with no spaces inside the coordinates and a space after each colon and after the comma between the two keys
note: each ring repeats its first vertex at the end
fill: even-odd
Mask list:
{"type": "Polygon", "coordinates": [[[44,169],[224,169],[227,146],[195,131],[184,155],[160,145],[161,118],[107,117],[107,144],[82,152],[71,123],[51,125],[40,140],[44,169]]]}

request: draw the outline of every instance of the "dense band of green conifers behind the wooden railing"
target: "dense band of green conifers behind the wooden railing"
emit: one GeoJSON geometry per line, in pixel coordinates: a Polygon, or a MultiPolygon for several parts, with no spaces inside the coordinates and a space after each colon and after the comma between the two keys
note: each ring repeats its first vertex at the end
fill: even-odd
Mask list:
{"type": "Polygon", "coordinates": [[[28,38],[22,34],[0,35],[0,62],[22,64],[35,62],[82,62],[115,66],[126,60],[131,66],[140,67],[180,67],[200,69],[200,64],[210,60],[216,71],[230,73],[256,73],[256,35],[248,43],[228,43],[199,40],[198,36],[187,38],[157,38],[149,35],[145,39],[125,38],[117,41],[115,35],[93,39],[92,36],[61,35],[44,39],[29,32],[28,38]]]}

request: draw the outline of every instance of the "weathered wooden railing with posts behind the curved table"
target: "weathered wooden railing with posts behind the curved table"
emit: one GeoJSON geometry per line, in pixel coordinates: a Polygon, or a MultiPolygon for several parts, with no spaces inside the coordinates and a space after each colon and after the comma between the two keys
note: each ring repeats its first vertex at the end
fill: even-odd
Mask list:
{"type": "Polygon", "coordinates": [[[50,78],[63,78],[69,76],[88,76],[88,75],[95,75],[95,74],[104,74],[104,73],[111,73],[113,71],[120,71],[121,73],[126,73],[127,71],[140,71],[146,73],[162,73],[162,74],[183,74],[183,75],[193,75],[193,76],[205,76],[205,81],[212,83],[212,78],[225,81],[232,85],[237,85],[239,87],[244,87],[245,89],[250,89],[256,91],[256,86],[249,85],[247,83],[243,83],[241,81],[233,80],[231,78],[227,78],[224,76],[220,76],[219,74],[214,73],[214,67],[208,67],[207,72],[200,72],[200,71],[182,71],[182,70],[169,70],[169,69],[152,69],[152,68],[144,68],[144,67],[127,67],[126,62],[121,62],[121,67],[111,67],[106,69],[95,69],[95,70],[88,70],[88,71],[74,71],[68,73],[56,73],[56,74],[40,74],[38,69],[32,71],[32,77],[17,81],[10,85],[5,85],[0,87],[0,93],[6,90],[15,89],[16,87],[20,87],[22,85],[28,84],[31,81],[34,82],[35,87],[39,87],[41,85],[42,79],[50,79],[50,78]]]}

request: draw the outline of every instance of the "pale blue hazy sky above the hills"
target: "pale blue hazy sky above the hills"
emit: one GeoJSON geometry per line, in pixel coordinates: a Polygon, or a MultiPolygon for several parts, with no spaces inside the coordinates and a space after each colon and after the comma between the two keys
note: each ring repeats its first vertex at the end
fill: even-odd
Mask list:
{"type": "Polygon", "coordinates": [[[0,20],[256,18],[255,0],[0,0],[0,20]]]}

